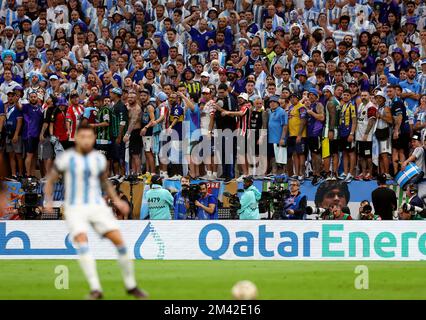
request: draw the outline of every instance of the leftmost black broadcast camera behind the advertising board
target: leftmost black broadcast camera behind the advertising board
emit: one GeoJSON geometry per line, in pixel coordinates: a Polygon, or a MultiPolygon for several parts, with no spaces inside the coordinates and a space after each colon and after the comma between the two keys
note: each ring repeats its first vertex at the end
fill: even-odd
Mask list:
{"type": "Polygon", "coordinates": [[[39,188],[40,182],[35,178],[27,178],[22,181],[24,194],[21,200],[18,201],[18,212],[21,219],[37,220],[41,218],[39,188]]]}

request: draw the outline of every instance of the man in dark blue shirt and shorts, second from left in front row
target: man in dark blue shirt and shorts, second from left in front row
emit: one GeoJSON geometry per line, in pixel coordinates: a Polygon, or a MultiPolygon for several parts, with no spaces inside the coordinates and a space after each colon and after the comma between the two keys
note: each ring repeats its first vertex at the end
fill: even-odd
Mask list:
{"type": "Polygon", "coordinates": [[[37,153],[39,136],[43,121],[43,111],[38,104],[37,92],[31,92],[29,95],[29,103],[20,106],[24,116],[24,126],[22,132],[22,141],[25,148],[25,171],[27,176],[34,176],[36,159],[34,155],[37,153]]]}

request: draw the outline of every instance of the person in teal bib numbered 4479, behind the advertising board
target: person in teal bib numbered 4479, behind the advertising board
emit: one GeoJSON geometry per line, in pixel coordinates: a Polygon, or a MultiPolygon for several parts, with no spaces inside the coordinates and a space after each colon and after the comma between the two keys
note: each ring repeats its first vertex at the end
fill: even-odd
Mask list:
{"type": "Polygon", "coordinates": [[[146,200],[150,220],[170,220],[173,197],[169,190],[163,189],[163,181],[160,176],[152,176],[151,189],[146,192],[146,200]]]}

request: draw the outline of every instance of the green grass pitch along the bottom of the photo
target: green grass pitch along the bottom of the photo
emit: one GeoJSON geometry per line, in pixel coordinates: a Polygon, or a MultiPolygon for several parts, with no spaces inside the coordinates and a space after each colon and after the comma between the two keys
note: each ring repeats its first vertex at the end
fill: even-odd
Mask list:
{"type": "MultiPolygon", "coordinates": [[[[124,293],[116,261],[97,261],[105,299],[124,293]]],[[[151,299],[232,299],[239,280],[253,281],[259,299],[426,299],[426,262],[369,261],[136,261],[140,286],[151,299]],[[355,289],[357,265],[369,289],[355,289]]],[[[88,286],[76,260],[3,260],[0,299],[83,299],[88,286]],[[69,289],[55,288],[55,267],[69,270],[69,289]]]]}

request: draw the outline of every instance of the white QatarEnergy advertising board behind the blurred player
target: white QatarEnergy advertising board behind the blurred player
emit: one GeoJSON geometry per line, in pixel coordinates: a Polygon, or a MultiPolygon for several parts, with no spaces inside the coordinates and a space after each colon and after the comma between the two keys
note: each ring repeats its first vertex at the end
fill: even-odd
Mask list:
{"type": "MultiPolygon", "coordinates": [[[[120,221],[135,259],[424,260],[422,221],[120,221]]],[[[89,233],[97,259],[112,244],[89,233]]],[[[0,259],[76,259],[64,221],[0,222],[0,259]]]]}

